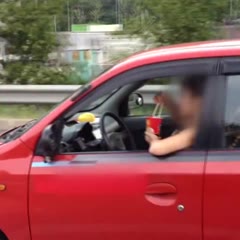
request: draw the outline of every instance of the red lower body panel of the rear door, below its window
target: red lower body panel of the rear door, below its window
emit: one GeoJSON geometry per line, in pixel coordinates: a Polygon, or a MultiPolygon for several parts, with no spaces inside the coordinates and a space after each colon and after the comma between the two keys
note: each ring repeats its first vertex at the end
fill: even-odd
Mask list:
{"type": "Polygon", "coordinates": [[[240,151],[210,152],[204,187],[204,240],[240,239],[240,151]]]}

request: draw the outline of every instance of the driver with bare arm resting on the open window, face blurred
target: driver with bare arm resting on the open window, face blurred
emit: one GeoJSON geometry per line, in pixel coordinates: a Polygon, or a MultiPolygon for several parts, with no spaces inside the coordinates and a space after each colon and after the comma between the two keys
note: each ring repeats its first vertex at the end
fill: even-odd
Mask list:
{"type": "Polygon", "coordinates": [[[151,128],[147,128],[145,140],[149,143],[151,154],[163,156],[190,148],[194,144],[206,80],[207,77],[201,75],[183,79],[179,104],[176,104],[167,94],[160,93],[155,96],[155,103],[164,104],[181,130],[175,131],[166,139],[161,139],[154,134],[151,128]]]}

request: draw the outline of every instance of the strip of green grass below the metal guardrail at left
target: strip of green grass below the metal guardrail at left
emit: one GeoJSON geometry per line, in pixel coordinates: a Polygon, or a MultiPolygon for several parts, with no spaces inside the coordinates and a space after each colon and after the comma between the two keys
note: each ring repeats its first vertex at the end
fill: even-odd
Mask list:
{"type": "Polygon", "coordinates": [[[52,106],[49,105],[0,105],[0,118],[34,119],[46,114],[52,106]]]}

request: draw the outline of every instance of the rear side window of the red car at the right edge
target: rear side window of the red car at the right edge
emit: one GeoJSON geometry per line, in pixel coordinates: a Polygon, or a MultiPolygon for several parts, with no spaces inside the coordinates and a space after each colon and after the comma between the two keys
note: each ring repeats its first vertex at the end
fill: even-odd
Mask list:
{"type": "Polygon", "coordinates": [[[228,76],[226,85],[225,136],[227,148],[240,148],[240,75],[228,76]]]}

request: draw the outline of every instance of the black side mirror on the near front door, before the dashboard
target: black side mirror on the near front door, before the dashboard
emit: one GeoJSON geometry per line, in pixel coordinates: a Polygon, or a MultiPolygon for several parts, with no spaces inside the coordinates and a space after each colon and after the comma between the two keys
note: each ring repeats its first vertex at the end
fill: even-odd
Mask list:
{"type": "Polygon", "coordinates": [[[63,121],[58,120],[43,130],[35,154],[45,157],[45,162],[53,161],[54,156],[59,152],[63,126],[63,121]]]}

